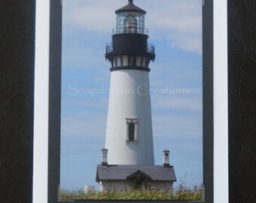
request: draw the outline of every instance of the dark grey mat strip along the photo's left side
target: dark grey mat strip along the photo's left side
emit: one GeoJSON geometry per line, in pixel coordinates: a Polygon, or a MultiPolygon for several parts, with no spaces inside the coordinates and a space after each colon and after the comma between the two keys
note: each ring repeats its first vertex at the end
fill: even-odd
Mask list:
{"type": "Polygon", "coordinates": [[[48,202],[58,202],[61,119],[62,5],[50,0],[48,202]]]}

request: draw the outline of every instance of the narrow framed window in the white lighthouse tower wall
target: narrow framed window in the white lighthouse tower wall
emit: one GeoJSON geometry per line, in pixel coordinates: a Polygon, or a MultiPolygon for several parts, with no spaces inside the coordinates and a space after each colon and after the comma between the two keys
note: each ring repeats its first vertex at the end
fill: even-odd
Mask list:
{"type": "Polygon", "coordinates": [[[126,118],[126,142],[137,142],[138,120],[126,118]]]}

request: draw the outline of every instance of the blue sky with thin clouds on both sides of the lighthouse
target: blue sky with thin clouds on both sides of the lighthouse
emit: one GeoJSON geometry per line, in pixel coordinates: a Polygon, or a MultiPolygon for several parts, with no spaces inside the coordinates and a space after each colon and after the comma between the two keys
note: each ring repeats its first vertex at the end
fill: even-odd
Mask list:
{"type": "MultiPolygon", "coordinates": [[[[114,11],[127,0],[62,2],[62,120],[60,186],[95,185],[96,165],[105,145],[114,11]]],[[[203,182],[202,2],[134,0],[147,11],[151,62],[154,161],[170,150],[178,183],[203,182]]]]}

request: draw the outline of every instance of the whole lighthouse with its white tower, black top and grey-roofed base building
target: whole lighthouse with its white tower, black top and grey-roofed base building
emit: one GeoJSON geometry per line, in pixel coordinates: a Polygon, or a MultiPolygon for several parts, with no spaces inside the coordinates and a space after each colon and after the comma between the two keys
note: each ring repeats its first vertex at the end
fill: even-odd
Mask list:
{"type": "Polygon", "coordinates": [[[130,186],[171,189],[176,179],[169,150],[164,151],[163,165],[154,165],[149,65],[156,55],[154,45],[148,43],[146,11],[129,0],[115,14],[116,27],[105,51],[111,82],[105,147],[96,181],[100,191],[130,186]]]}

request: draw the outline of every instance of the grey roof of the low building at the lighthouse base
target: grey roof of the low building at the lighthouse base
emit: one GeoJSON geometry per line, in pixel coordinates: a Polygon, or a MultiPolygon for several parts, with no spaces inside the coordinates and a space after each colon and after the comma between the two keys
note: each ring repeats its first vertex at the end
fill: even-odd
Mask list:
{"type": "Polygon", "coordinates": [[[176,181],[173,167],[164,168],[162,165],[97,165],[96,182],[101,180],[126,180],[126,177],[142,171],[153,181],[176,181]]]}

